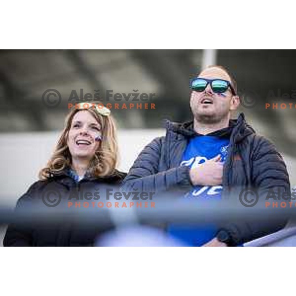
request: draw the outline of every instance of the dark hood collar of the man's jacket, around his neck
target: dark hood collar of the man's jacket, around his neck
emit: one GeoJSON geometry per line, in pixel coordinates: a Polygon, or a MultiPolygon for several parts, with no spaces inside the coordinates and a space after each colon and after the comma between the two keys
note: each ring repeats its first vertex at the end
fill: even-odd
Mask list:
{"type": "MultiPolygon", "coordinates": [[[[175,133],[184,136],[185,138],[191,138],[198,136],[199,134],[193,129],[193,121],[184,123],[176,123],[166,120],[167,133],[175,133]]],[[[255,130],[246,122],[244,113],[240,113],[237,119],[229,120],[229,127],[219,131],[210,133],[211,136],[227,136],[233,137],[235,143],[241,142],[247,136],[256,133],[255,130]]]]}

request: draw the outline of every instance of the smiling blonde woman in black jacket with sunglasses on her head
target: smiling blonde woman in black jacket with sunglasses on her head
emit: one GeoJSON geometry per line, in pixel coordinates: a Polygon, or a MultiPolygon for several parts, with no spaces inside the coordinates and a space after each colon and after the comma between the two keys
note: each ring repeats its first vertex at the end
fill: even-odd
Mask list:
{"type": "MultiPolygon", "coordinates": [[[[125,173],[116,170],[117,138],[111,111],[92,103],[75,104],[65,121],[47,166],[39,172],[39,181],[18,200],[16,209],[30,209],[42,199],[44,191],[63,192],[63,200],[74,193],[90,192],[100,186],[119,186],[125,173]],[[40,197],[42,196],[42,198],[40,197]]],[[[81,194],[79,195],[81,196],[81,194]]],[[[67,198],[68,197],[68,198],[67,198]]],[[[68,200],[67,200],[68,201],[68,200]]],[[[78,200],[83,202],[83,200],[78,200]]],[[[63,202],[59,206],[61,206],[63,202]]],[[[69,223],[54,227],[11,224],[4,246],[91,246],[98,235],[94,229],[73,227],[69,223]],[[80,230],[79,230],[80,229],[80,230]]]]}

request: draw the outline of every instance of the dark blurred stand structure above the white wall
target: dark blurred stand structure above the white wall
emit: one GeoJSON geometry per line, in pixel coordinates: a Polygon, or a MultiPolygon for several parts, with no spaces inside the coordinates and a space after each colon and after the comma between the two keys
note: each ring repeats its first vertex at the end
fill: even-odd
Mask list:
{"type": "MultiPolygon", "coordinates": [[[[67,112],[71,91],[85,93],[112,89],[118,93],[155,93],[157,108],[115,111],[121,128],[159,128],[161,119],[190,118],[188,77],[201,68],[219,64],[233,74],[241,95],[255,95],[261,104],[251,110],[270,137],[295,154],[292,132],[294,111],[265,111],[262,103],[278,90],[296,91],[294,50],[1,50],[1,132],[59,130],[67,112]],[[42,104],[47,89],[61,93],[62,104],[50,109],[42,104]],[[65,108],[66,107],[66,108],[65,108]]],[[[295,94],[296,95],[296,94],[295,94]]],[[[294,102],[296,98],[294,99],[294,102]]],[[[289,102],[293,102],[290,99],[289,102]]],[[[250,113],[250,112],[248,112],[250,113]]]]}

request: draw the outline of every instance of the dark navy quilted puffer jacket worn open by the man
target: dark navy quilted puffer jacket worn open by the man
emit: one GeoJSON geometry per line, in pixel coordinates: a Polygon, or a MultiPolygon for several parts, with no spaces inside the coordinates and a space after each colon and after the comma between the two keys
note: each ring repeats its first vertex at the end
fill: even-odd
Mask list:
{"type": "MultiPolygon", "coordinates": [[[[230,142],[223,166],[222,199],[229,196],[238,199],[242,189],[252,187],[261,194],[270,188],[290,192],[286,165],[275,146],[255,133],[241,113],[237,120],[230,120],[230,142]]],[[[193,123],[176,124],[167,122],[166,136],[154,139],[136,159],[124,180],[125,190],[131,188],[143,191],[176,191],[185,194],[192,190],[189,167],[180,166],[188,141],[196,136],[193,123]]],[[[229,128],[220,131],[229,132],[229,128]]],[[[217,133],[217,132],[215,132],[217,133]]],[[[214,135],[214,133],[213,133],[214,135]]],[[[266,211],[265,211],[266,212],[266,211]]],[[[221,229],[238,245],[285,226],[286,218],[230,220],[221,229]]]]}

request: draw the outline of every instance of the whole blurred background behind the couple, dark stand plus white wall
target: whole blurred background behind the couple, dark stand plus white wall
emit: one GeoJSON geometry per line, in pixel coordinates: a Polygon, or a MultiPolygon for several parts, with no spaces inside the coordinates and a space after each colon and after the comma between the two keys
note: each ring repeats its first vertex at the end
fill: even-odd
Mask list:
{"type": "Polygon", "coordinates": [[[120,168],[128,171],[140,150],[163,134],[164,119],[191,119],[189,76],[214,64],[236,79],[245,106],[255,104],[238,112],[275,143],[295,185],[295,50],[1,50],[1,204],[13,207],[37,180],[63,128],[73,90],[80,96],[80,89],[84,94],[99,89],[103,103],[106,90],[156,94],[151,101],[155,110],[112,110],[119,128],[120,168]],[[56,108],[42,102],[48,89],[61,94],[56,108]],[[278,108],[265,109],[265,103],[278,108]],[[281,109],[282,103],[288,108],[281,109]]]}

